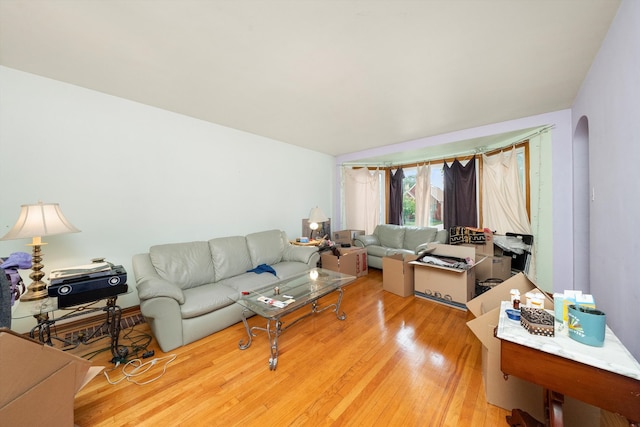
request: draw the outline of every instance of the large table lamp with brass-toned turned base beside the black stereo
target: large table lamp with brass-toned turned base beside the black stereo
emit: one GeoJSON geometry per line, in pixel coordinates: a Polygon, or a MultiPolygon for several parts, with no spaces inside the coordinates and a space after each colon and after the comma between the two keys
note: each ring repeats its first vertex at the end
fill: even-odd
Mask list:
{"type": "Polygon", "coordinates": [[[34,301],[46,298],[47,284],[42,281],[44,267],[40,247],[46,245],[42,242],[43,236],[55,234],[77,233],[75,228],[62,214],[57,203],[38,202],[35,205],[22,205],[20,216],[16,224],[0,240],[32,239],[27,246],[33,248],[32,273],[29,275],[32,282],[27,286],[27,292],[21,297],[21,301],[34,301]]]}

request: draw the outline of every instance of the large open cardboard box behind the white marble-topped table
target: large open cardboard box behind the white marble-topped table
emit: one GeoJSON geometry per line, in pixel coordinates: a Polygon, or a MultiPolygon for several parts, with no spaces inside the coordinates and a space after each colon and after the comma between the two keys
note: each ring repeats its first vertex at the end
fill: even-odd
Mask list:
{"type": "MultiPolygon", "coordinates": [[[[520,295],[537,289],[523,273],[518,273],[491,290],[467,303],[468,310],[476,316],[467,326],[482,343],[482,378],[487,401],[503,409],[522,409],[544,422],[543,389],[541,386],[510,375],[507,379],[500,369],[500,339],[494,336],[500,317],[500,304],[510,300],[510,290],[518,289],[520,295]]],[[[542,292],[542,291],[541,291],[542,292]]],[[[547,296],[546,309],[553,309],[553,300],[547,296]]],[[[553,339],[553,338],[550,338],[553,339]]],[[[564,425],[567,427],[596,427],[600,425],[600,409],[565,396],[563,405],[564,425]]]]}

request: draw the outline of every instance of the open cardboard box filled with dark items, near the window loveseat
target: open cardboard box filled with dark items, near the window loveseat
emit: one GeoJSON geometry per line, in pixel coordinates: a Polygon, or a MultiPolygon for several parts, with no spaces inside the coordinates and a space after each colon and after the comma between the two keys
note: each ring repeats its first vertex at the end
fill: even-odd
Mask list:
{"type": "Polygon", "coordinates": [[[476,251],[472,247],[462,245],[432,245],[435,250],[432,255],[455,258],[471,258],[475,265],[468,270],[443,267],[412,261],[414,265],[414,294],[451,307],[466,310],[467,301],[475,294],[475,269],[484,257],[477,259],[476,251]]]}

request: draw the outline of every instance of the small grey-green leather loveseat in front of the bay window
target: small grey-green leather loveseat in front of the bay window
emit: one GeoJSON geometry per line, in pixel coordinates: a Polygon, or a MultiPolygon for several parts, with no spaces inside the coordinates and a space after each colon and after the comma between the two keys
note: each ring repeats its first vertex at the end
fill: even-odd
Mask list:
{"type": "Polygon", "coordinates": [[[354,245],[367,250],[369,267],[382,269],[382,258],[395,254],[417,254],[429,243],[447,243],[447,231],[434,227],[379,224],[373,234],[354,238],[354,245]]]}

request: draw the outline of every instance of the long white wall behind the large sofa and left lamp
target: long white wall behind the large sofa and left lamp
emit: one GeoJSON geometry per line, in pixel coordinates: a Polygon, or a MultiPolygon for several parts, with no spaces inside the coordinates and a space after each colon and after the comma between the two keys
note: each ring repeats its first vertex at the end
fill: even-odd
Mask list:
{"type": "MultiPolygon", "coordinates": [[[[47,275],[103,256],[131,286],[131,257],[151,245],[271,228],[295,238],[312,207],[333,208],[331,156],[6,67],[0,159],[0,236],[38,200],[82,230],[44,239],[47,275]]],[[[0,241],[0,256],[27,243],[0,241]]]]}

